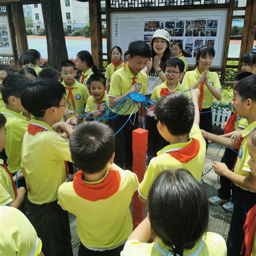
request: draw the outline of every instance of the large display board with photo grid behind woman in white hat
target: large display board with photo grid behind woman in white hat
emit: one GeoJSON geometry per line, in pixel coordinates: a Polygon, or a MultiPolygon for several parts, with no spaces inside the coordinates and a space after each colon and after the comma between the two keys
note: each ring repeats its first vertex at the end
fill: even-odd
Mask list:
{"type": "Polygon", "coordinates": [[[111,13],[111,46],[118,45],[123,52],[129,43],[143,40],[150,44],[154,31],[165,29],[170,42],[181,41],[188,65],[194,65],[198,48],[211,45],[215,49],[212,66],[221,68],[225,48],[227,9],[113,12],[111,13]]]}

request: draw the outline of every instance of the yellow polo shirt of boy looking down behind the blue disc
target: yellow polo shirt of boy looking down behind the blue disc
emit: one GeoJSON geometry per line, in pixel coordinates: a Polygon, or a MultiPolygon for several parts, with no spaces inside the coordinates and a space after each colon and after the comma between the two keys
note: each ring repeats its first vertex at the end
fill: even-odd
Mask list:
{"type": "MultiPolygon", "coordinates": [[[[129,69],[129,64],[123,66],[123,68],[113,73],[111,77],[111,86],[109,90],[109,97],[118,97],[124,95],[125,92],[129,91],[132,86],[133,75],[129,69]]],[[[141,84],[139,93],[145,95],[147,93],[147,75],[143,71],[136,74],[136,83],[141,84]]],[[[120,100],[120,107],[115,107],[112,111],[121,114],[123,116],[130,115],[137,103],[132,102],[132,99],[126,99],[125,101],[120,100]]],[[[133,113],[136,113],[134,111],[133,113]]]]}

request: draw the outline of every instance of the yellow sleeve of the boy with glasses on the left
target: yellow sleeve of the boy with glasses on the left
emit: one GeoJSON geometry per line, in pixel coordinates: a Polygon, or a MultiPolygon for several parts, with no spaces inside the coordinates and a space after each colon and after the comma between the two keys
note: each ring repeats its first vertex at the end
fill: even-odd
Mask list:
{"type": "Polygon", "coordinates": [[[45,140],[50,143],[44,144],[45,150],[58,160],[71,162],[69,140],[62,138],[57,132],[47,132],[46,136],[45,140]]]}

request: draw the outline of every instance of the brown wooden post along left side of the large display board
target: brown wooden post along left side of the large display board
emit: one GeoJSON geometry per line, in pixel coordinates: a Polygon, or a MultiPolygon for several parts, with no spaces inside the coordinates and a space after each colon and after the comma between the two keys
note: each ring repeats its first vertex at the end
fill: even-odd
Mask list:
{"type": "Polygon", "coordinates": [[[103,70],[102,53],[102,22],[100,16],[100,0],[89,1],[90,28],[91,28],[91,51],[95,65],[99,71],[103,70]]]}

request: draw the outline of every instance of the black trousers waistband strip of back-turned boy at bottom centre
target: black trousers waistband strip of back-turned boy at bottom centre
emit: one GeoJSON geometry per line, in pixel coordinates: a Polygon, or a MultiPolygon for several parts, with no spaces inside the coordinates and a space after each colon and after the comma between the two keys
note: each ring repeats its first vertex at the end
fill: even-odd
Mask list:
{"type": "Polygon", "coordinates": [[[80,242],[80,247],[78,251],[78,256],[120,256],[120,253],[123,251],[124,244],[114,248],[112,250],[105,251],[93,251],[86,248],[82,242],[80,242]]]}

